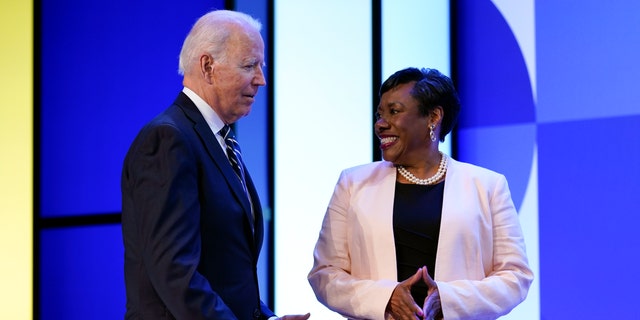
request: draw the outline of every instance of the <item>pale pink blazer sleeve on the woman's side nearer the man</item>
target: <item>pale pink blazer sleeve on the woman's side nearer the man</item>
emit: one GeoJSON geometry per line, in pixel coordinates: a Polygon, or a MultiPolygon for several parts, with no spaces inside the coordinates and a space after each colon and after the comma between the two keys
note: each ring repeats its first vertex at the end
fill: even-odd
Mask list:
{"type": "MultiPolygon", "coordinates": [[[[351,189],[343,171],[325,213],[314,250],[314,265],[308,280],[318,301],[351,319],[384,319],[391,294],[398,284],[393,280],[371,280],[352,275],[349,248],[351,189]]],[[[366,259],[366,257],[361,257],[366,259]]],[[[365,263],[360,261],[359,263],[365,263]]]]}

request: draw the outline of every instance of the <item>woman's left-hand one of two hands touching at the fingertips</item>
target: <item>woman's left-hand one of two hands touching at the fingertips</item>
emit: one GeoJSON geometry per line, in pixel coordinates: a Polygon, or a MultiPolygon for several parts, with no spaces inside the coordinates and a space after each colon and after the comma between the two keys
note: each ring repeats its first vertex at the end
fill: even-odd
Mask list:
{"type": "Polygon", "coordinates": [[[387,313],[389,313],[393,319],[395,320],[416,320],[422,319],[423,309],[420,308],[413,301],[413,297],[411,296],[411,287],[423,281],[423,268],[418,269],[418,271],[407,280],[400,282],[395,289],[393,289],[393,293],[391,294],[391,298],[387,303],[387,313]]]}

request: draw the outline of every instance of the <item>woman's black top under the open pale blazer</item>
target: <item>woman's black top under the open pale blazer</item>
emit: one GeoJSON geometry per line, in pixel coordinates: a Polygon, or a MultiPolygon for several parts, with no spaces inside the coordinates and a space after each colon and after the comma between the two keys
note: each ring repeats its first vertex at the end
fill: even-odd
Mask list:
{"type": "MultiPolygon", "coordinates": [[[[396,245],[398,281],[413,276],[427,266],[434,278],[444,181],[435,185],[404,184],[396,182],[393,203],[393,235],[396,245]]],[[[419,306],[427,297],[427,285],[421,281],[411,294],[419,306]]]]}

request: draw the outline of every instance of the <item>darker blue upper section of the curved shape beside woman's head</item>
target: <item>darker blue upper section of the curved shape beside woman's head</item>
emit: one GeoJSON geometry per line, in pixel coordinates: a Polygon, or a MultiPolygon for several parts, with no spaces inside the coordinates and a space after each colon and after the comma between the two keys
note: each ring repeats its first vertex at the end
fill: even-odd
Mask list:
{"type": "Polygon", "coordinates": [[[459,126],[535,122],[529,74],[515,36],[489,0],[462,1],[458,11],[459,126]]]}

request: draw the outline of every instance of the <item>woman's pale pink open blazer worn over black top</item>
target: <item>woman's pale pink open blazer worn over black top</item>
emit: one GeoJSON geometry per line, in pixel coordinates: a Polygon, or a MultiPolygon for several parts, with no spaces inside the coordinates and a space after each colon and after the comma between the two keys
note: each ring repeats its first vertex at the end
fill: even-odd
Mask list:
{"type": "MultiPolygon", "coordinates": [[[[345,317],[391,319],[387,302],[405,280],[396,270],[395,183],[390,162],[346,169],[329,202],[308,280],[345,317]]],[[[495,319],[527,296],[533,273],[503,175],[449,158],[435,281],[445,319],[495,319]]]]}

